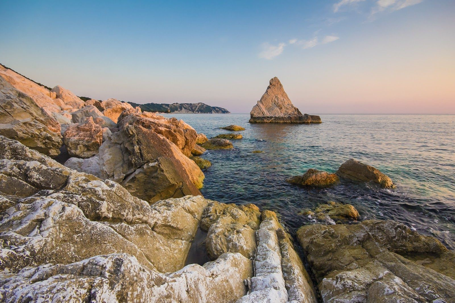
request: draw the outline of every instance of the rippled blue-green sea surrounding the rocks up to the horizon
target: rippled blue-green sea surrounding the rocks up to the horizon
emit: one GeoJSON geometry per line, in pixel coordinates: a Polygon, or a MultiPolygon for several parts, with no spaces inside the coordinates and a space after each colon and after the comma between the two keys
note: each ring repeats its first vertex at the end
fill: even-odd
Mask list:
{"type": "Polygon", "coordinates": [[[455,115],[321,115],[322,124],[249,124],[249,114],[168,114],[207,137],[229,133],[233,150],[208,150],[202,194],[220,202],[276,211],[291,232],[310,223],[303,208],[338,201],[362,219],[394,219],[455,249],[455,115]],[[262,154],[253,154],[262,150],[262,154]],[[287,184],[309,168],[335,172],[355,158],[392,178],[397,189],[341,182],[324,189],[287,184]]]}

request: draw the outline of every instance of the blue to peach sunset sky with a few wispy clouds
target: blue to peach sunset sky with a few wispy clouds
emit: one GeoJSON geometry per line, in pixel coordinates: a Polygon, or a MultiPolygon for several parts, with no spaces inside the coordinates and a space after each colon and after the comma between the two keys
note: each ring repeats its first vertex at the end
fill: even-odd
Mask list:
{"type": "Polygon", "coordinates": [[[0,1],[0,63],[78,96],[455,114],[455,1],[0,1]]]}

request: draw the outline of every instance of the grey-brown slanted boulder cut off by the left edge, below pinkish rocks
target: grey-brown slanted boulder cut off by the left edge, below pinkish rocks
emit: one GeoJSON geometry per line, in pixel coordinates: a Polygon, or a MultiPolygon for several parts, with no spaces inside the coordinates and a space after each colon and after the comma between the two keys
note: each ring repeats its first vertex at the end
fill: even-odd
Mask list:
{"type": "Polygon", "coordinates": [[[21,141],[50,157],[60,154],[60,125],[32,98],[0,77],[0,135],[21,141]]]}

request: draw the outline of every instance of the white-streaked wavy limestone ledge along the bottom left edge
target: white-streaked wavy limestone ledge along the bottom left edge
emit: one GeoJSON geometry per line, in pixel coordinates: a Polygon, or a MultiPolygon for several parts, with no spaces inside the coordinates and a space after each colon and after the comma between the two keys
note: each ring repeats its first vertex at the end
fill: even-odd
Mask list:
{"type": "Polygon", "coordinates": [[[101,255],[68,265],[46,264],[0,277],[5,302],[235,302],[246,293],[243,283],[252,262],[224,254],[215,262],[191,264],[159,273],[127,254],[101,255]]]}

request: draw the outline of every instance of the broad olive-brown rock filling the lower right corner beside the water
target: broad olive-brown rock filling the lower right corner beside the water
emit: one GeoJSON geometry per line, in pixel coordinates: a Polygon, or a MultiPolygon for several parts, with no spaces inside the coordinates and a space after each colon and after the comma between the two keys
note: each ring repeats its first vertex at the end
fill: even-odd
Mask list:
{"type": "Polygon", "coordinates": [[[392,220],[297,231],[324,302],[455,299],[455,252],[392,220]]]}

